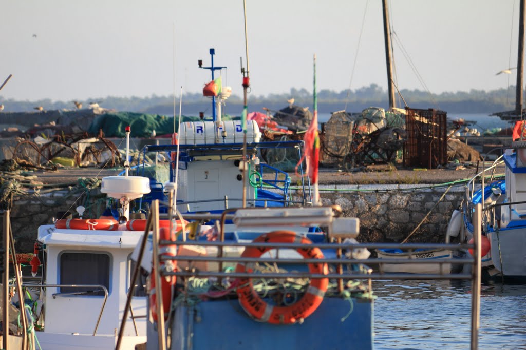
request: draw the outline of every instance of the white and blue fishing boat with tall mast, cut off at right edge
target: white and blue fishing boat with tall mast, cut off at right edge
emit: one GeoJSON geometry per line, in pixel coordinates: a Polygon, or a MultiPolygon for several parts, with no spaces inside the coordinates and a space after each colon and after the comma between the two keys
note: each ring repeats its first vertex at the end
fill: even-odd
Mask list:
{"type": "Polygon", "coordinates": [[[485,278],[500,281],[526,279],[526,129],[522,107],[525,6],[526,1],[521,0],[515,110],[494,114],[515,122],[511,146],[493,150],[503,154],[467,183],[463,206],[453,213],[462,214],[462,225],[458,231],[451,229],[460,241],[470,240],[473,225],[478,223],[473,208],[482,206],[482,269],[485,278]]]}

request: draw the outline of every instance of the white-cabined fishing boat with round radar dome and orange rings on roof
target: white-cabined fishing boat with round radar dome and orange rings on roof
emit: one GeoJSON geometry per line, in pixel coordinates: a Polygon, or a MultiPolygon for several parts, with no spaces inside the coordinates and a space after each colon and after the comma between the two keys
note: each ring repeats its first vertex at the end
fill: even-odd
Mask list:
{"type": "MultiPolygon", "coordinates": [[[[129,134],[128,126],[128,153],[129,134]]],[[[100,192],[119,204],[119,218],[89,218],[79,206],[74,216],[58,214],[53,224],[38,229],[31,265],[36,275],[43,258],[42,280],[25,287],[39,291],[26,307],[32,310],[35,344],[43,350],[115,347],[130,287],[130,257],[146,221],[128,219],[129,203],[150,192],[149,179],[127,172],[107,176],[100,192]]],[[[141,284],[127,306],[131,322],[121,338],[126,348],[146,340],[146,304],[141,284]]]]}

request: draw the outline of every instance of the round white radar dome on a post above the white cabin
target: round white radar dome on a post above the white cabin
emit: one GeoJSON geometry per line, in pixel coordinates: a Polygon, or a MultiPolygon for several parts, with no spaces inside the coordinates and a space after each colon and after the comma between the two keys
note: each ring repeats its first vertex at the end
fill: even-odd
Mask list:
{"type": "Polygon", "coordinates": [[[143,176],[106,176],[102,178],[100,192],[117,199],[140,198],[150,193],[150,179],[143,176]]]}

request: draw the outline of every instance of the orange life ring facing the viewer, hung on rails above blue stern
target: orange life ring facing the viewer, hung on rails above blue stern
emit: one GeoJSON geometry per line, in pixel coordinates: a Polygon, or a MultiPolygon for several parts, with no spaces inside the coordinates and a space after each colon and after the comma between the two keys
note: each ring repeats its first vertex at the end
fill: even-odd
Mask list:
{"type": "MultiPolygon", "coordinates": [[[[272,231],[261,235],[254,240],[254,242],[269,242],[269,243],[304,243],[311,244],[310,239],[296,235],[292,231],[272,231]]],[[[272,248],[258,248],[247,247],[241,254],[241,257],[259,258],[261,254],[272,248]]],[[[312,248],[298,248],[296,249],[304,258],[307,259],[322,259],[323,253],[317,247],[312,248]]],[[[238,263],[236,272],[246,272],[245,264],[238,263]]],[[[329,269],[326,263],[310,263],[309,272],[316,274],[327,274],[329,269]]],[[[268,322],[273,324],[292,324],[300,319],[305,319],[313,313],[323,300],[323,296],[327,291],[329,284],[328,278],[311,279],[310,285],[307,288],[304,296],[296,303],[289,306],[273,306],[267,304],[261,299],[259,294],[252,287],[252,279],[239,279],[237,288],[237,295],[239,304],[245,311],[254,317],[256,321],[268,322]]]]}

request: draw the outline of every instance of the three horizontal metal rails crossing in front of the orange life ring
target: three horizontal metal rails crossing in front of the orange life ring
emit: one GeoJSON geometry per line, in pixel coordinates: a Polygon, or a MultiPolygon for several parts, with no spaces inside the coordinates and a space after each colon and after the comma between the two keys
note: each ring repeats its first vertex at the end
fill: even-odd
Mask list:
{"type": "MultiPolygon", "coordinates": [[[[252,257],[226,257],[226,256],[185,256],[177,255],[174,257],[161,256],[160,261],[174,260],[174,261],[185,261],[188,262],[185,266],[190,266],[190,268],[185,268],[180,271],[163,271],[162,275],[176,275],[178,277],[214,277],[214,278],[330,278],[337,280],[349,280],[349,279],[471,279],[472,273],[454,273],[450,274],[449,270],[445,267],[442,269],[442,273],[390,273],[383,272],[383,264],[439,264],[440,266],[445,266],[446,264],[471,264],[475,263],[475,259],[472,257],[468,258],[440,258],[440,259],[383,259],[383,258],[368,258],[368,259],[359,259],[353,257],[353,250],[355,249],[406,249],[408,251],[414,251],[417,249],[473,249],[473,244],[445,244],[445,243],[267,243],[267,242],[220,242],[220,241],[168,241],[160,240],[159,245],[166,246],[170,244],[177,244],[178,246],[201,246],[201,247],[239,247],[239,248],[258,248],[261,250],[276,249],[277,255],[279,256],[280,249],[312,249],[318,248],[322,252],[327,250],[338,250],[347,251],[344,256],[340,258],[252,258],[252,257]],[[308,271],[274,271],[274,272],[225,272],[225,271],[204,271],[191,268],[191,262],[218,262],[222,263],[223,266],[228,266],[231,264],[244,264],[244,263],[260,263],[260,264],[311,264],[311,263],[326,263],[331,266],[335,266],[334,272],[328,274],[313,274],[308,271]],[[344,270],[344,267],[349,266],[349,264],[361,264],[361,265],[375,265],[378,266],[378,271],[373,271],[370,268],[360,268],[357,270],[347,269],[344,270]],[[341,269],[340,269],[341,267],[341,269]],[[447,271],[446,271],[447,270],[447,271]],[[338,272],[341,271],[341,272],[338,272]]],[[[218,252],[221,249],[218,249],[218,252]]],[[[219,264],[221,266],[221,264],[219,264]]]]}

